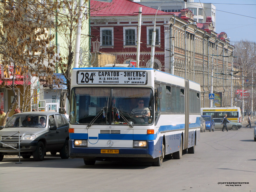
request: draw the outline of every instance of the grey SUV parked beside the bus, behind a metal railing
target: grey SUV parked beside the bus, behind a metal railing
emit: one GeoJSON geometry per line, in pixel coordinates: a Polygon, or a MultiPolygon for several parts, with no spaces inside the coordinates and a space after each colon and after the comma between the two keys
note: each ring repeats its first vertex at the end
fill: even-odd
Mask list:
{"type": "Polygon", "coordinates": [[[57,112],[24,112],[13,115],[6,125],[0,126],[0,161],[4,155],[20,155],[42,161],[46,152],[60,153],[69,158],[69,123],[64,114],[57,112]],[[19,132],[19,134],[18,134],[19,132]],[[13,148],[12,148],[13,147],[13,148]]]}

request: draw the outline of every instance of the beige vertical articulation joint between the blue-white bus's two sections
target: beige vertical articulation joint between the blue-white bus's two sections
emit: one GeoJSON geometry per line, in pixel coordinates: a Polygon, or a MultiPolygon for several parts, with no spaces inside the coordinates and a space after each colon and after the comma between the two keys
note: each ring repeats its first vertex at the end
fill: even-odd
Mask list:
{"type": "Polygon", "coordinates": [[[188,148],[188,129],[189,129],[189,81],[185,79],[185,135],[184,149],[188,148]]]}

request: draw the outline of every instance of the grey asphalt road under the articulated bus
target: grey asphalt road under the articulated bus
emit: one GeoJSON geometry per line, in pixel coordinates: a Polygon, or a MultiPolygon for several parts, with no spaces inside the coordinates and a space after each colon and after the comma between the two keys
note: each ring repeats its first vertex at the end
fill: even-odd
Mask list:
{"type": "Polygon", "coordinates": [[[86,166],[82,159],[61,159],[58,153],[47,154],[42,162],[31,157],[21,158],[22,164],[16,164],[18,157],[7,156],[0,162],[0,190],[256,191],[255,145],[253,129],[242,127],[237,131],[201,133],[195,154],[164,160],[161,167],[141,162],[99,161],[86,166]]]}

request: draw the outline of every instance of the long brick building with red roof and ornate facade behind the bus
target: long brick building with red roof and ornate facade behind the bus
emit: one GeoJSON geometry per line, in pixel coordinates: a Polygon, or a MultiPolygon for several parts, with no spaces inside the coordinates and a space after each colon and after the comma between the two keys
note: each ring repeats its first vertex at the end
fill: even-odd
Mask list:
{"type": "MultiPolygon", "coordinates": [[[[100,51],[116,55],[116,63],[136,61],[139,7],[142,7],[139,67],[150,67],[152,31],[156,23],[154,68],[170,73],[173,66],[173,74],[200,83],[207,94],[213,61],[214,83],[224,99],[230,87],[230,80],[226,79],[230,77],[220,85],[217,76],[230,70],[231,57],[216,55],[231,55],[234,47],[225,40],[225,35],[214,32],[210,17],[205,24],[193,25],[194,15],[189,9],[168,13],[129,0],[91,1],[91,41],[98,39],[100,51]]],[[[202,98],[204,107],[206,98],[202,98]]]]}

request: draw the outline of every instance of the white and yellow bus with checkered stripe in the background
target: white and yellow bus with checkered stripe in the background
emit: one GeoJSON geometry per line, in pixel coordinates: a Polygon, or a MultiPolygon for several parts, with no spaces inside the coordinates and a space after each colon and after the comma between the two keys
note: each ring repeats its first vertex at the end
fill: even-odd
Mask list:
{"type": "Polygon", "coordinates": [[[201,115],[211,115],[214,119],[223,119],[225,114],[229,121],[241,123],[241,109],[239,107],[201,108],[201,115]]]}

